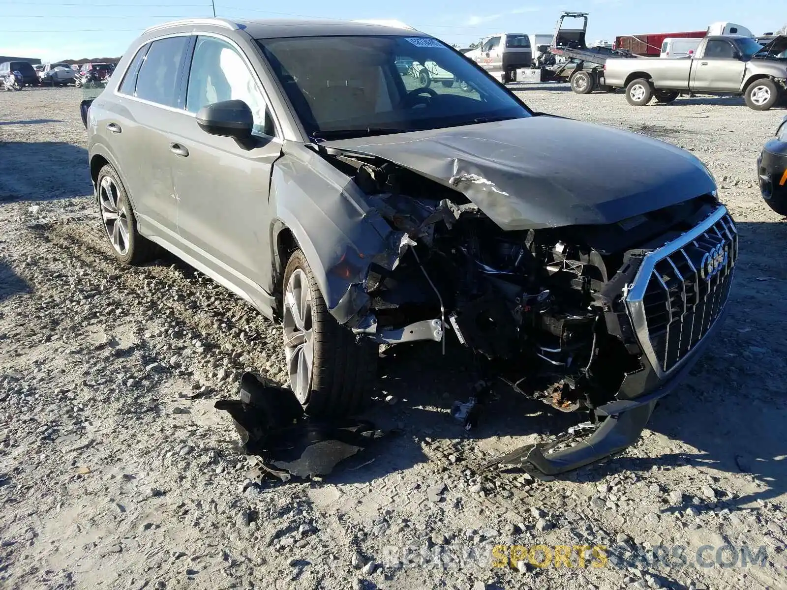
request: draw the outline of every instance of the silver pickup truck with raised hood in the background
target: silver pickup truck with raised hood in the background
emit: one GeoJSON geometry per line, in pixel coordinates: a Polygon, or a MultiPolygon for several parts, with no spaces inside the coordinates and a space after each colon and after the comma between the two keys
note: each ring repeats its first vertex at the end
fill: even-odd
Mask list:
{"type": "Polygon", "coordinates": [[[608,59],[604,84],[625,88],[630,105],[655,96],[671,102],[681,92],[742,94],[751,109],[764,111],[787,97],[787,36],[760,45],[740,35],[705,37],[689,57],[608,59]]]}

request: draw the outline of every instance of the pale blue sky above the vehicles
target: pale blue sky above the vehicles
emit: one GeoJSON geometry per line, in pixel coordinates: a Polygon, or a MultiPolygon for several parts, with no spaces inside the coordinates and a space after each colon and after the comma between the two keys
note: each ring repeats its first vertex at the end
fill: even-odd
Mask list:
{"type": "MultiPolygon", "coordinates": [[[[113,57],[152,24],[212,14],[210,0],[160,2],[0,0],[0,55],[44,61],[113,57]]],[[[424,0],[397,0],[386,2],[385,7],[379,0],[216,0],[216,13],[224,17],[396,19],[459,46],[497,31],[552,33],[562,10],[590,13],[591,41],[646,32],[698,31],[718,20],[742,24],[760,35],[787,22],[787,10],[774,10],[779,2],[772,0],[571,0],[566,4],[453,0],[440,4],[451,9],[424,0]]]]}

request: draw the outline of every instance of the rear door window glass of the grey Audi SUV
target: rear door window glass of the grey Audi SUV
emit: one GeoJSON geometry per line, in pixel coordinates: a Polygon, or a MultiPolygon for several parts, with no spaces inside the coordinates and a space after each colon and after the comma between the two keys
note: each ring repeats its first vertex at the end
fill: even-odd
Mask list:
{"type": "Polygon", "coordinates": [[[177,106],[178,72],[188,42],[188,37],[168,37],[150,43],[139,68],[135,97],[159,105],[177,106]]]}

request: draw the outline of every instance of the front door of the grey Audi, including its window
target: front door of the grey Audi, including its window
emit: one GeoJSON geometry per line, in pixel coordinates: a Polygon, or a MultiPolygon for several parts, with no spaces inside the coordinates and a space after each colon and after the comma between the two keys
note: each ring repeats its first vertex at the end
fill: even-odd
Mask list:
{"type": "Polygon", "coordinates": [[[268,190],[281,154],[270,113],[249,61],[227,41],[200,35],[187,83],[186,112],[172,118],[168,161],[184,248],[216,274],[253,295],[272,272],[268,190]],[[259,146],[209,135],[194,115],[213,102],[239,99],[254,115],[259,146]]]}

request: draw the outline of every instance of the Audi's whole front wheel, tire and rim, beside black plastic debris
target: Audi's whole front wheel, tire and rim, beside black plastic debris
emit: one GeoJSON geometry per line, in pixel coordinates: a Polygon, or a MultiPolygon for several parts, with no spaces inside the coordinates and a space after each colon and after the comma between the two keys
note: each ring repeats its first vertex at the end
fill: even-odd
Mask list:
{"type": "Polygon", "coordinates": [[[309,263],[295,250],[284,271],[283,339],[290,387],[307,414],[357,414],[374,385],[379,346],[328,312],[309,263]]]}

